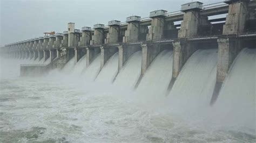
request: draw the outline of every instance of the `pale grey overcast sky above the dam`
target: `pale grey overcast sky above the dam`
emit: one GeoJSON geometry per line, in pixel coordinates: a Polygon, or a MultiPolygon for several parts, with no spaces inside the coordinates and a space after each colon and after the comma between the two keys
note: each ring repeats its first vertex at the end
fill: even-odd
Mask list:
{"type": "MultiPolygon", "coordinates": [[[[204,4],[222,0],[201,0],[204,4]]],[[[125,22],[126,17],[149,17],[150,11],[178,11],[191,0],[0,0],[0,45],[43,36],[44,32],[66,31],[69,22],[75,28],[93,27],[110,20],[125,22]]]]}

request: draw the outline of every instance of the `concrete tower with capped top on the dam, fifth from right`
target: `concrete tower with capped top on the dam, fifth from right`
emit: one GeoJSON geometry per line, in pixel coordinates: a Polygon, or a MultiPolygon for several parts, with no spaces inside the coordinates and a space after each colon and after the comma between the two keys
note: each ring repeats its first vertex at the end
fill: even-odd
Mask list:
{"type": "Polygon", "coordinates": [[[109,33],[106,35],[105,44],[118,43],[120,21],[112,20],[109,22],[109,33]]]}

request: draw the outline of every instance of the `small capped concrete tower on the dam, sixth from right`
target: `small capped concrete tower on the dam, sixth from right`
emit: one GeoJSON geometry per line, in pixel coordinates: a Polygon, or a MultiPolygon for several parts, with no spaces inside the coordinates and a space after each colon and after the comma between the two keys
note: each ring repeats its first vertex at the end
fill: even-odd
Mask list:
{"type": "Polygon", "coordinates": [[[96,24],[93,26],[94,33],[90,45],[100,45],[104,43],[104,25],[96,24]]]}

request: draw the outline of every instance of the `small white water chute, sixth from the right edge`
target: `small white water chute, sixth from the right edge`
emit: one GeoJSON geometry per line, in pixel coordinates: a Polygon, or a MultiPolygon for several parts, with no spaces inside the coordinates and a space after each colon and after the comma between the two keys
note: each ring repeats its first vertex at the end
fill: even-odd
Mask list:
{"type": "Polygon", "coordinates": [[[95,81],[95,78],[99,74],[100,70],[100,54],[96,56],[96,59],[85,69],[82,76],[85,81],[95,81]]]}

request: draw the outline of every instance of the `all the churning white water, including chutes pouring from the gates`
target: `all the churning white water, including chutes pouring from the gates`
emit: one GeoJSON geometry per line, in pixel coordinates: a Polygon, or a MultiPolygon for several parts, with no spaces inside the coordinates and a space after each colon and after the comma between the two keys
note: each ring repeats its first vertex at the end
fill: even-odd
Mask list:
{"type": "Polygon", "coordinates": [[[101,71],[100,56],[87,68],[84,56],[33,78],[18,77],[19,65],[30,60],[1,58],[0,142],[255,142],[256,51],[239,54],[210,107],[216,52],[195,52],[167,97],[172,51],[157,56],[136,90],[141,52],[129,58],[113,84],[118,54],[101,71]],[[105,75],[111,77],[99,79],[105,75]]]}

